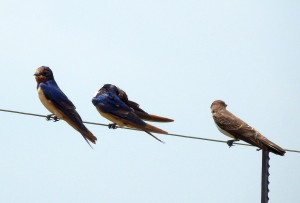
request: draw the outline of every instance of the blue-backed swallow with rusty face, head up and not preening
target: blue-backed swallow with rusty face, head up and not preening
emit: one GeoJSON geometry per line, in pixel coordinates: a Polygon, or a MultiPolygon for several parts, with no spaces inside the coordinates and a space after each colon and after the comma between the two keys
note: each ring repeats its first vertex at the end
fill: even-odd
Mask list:
{"type": "Polygon", "coordinates": [[[89,141],[96,144],[97,138],[85,127],[74,104],[58,87],[51,69],[41,66],[37,68],[34,76],[37,82],[39,99],[46,109],[52,113],[47,116],[48,120],[51,117],[55,121],[62,119],[77,130],[89,145],[89,141]]]}

